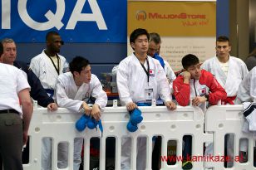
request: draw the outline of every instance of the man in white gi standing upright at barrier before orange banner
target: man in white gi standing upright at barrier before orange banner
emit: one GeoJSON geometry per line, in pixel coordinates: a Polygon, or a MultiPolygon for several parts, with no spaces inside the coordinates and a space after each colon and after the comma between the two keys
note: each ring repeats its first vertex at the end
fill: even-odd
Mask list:
{"type": "MultiPolygon", "coordinates": [[[[149,104],[160,96],[168,109],[175,109],[170,87],[160,62],[147,56],[150,35],[145,29],[135,29],[130,34],[134,53],[118,66],[116,82],[121,104],[131,111],[137,103],[149,104]]],[[[145,169],[146,138],[139,138],[136,169],[145,169]]],[[[150,165],[148,165],[150,166],[150,165]]],[[[150,167],[148,167],[150,168],[150,167]]],[[[122,140],[121,169],[130,169],[130,139],[122,140]]]]}

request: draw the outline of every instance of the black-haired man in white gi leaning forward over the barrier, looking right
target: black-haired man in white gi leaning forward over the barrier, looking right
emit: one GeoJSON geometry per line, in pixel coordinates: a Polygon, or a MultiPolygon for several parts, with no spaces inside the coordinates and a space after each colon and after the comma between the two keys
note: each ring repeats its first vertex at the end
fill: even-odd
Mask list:
{"type": "MultiPolygon", "coordinates": [[[[96,119],[101,118],[101,111],[106,107],[107,96],[102,90],[101,82],[96,75],[91,74],[91,66],[88,60],[81,56],[73,58],[69,64],[70,72],[59,75],[57,79],[56,100],[60,107],[81,112],[96,119]],[[86,102],[95,99],[92,107],[86,102]]],[[[75,138],[74,142],[74,170],[78,170],[81,163],[82,138],[75,138]]],[[[58,168],[67,167],[68,146],[60,143],[58,155],[58,168]]]]}

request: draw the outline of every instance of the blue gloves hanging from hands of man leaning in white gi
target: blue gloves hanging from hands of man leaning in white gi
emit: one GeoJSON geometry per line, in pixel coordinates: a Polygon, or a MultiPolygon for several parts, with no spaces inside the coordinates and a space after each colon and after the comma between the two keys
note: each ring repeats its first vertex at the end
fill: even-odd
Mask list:
{"type": "Polygon", "coordinates": [[[80,132],[86,129],[86,126],[89,129],[96,128],[97,130],[97,125],[99,125],[99,129],[101,130],[101,136],[102,136],[103,126],[101,124],[101,119],[99,121],[96,121],[96,119],[91,118],[91,116],[87,116],[86,114],[83,114],[81,118],[76,121],[76,129],[80,132]]]}

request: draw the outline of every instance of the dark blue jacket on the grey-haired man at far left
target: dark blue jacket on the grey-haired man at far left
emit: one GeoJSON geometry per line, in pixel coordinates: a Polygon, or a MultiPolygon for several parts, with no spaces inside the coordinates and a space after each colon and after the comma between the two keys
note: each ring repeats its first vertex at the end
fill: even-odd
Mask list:
{"type": "Polygon", "coordinates": [[[26,63],[22,61],[14,61],[13,66],[16,66],[18,69],[21,69],[27,73],[27,81],[31,86],[30,95],[33,100],[37,100],[37,104],[41,105],[42,107],[47,107],[48,104],[54,102],[54,100],[52,100],[52,98],[49,97],[47,92],[43,89],[37,75],[35,75],[33,71],[28,68],[26,63]]]}

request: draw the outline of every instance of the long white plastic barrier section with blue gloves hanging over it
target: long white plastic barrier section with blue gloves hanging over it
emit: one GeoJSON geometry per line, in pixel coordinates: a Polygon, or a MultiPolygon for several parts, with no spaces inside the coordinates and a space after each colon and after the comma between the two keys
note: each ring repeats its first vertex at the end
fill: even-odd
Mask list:
{"type": "MultiPolygon", "coordinates": [[[[152,138],[155,135],[162,137],[162,156],[167,155],[167,142],[177,141],[177,156],[182,155],[182,138],[184,135],[193,137],[193,155],[203,155],[203,144],[213,141],[212,134],[204,134],[204,113],[198,107],[178,107],[175,111],[166,109],[165,106],[140,107],[143,114],[143,122],[135,133],[126,129],[129,114],[125,107],[107,107],[101,114],[101,121],[104,132],[101,138],[100,130],[87,129],[84,132],[77,132],[75,129],[76,120],[81,114],[71,113],[67,109],[58,109],[57,112],[49,113],[47,109],[34,109],[32,122],[29,129],[31,136],[30,163],[24,164],[25,170],[41,169],[41,148],[42,138],[52,138],[52,169],[57,168],[57,146],[60,142],[69,143],[68,153],[73,153],[74,138],[84,138],[85,158],[84,169],[89,169],[89,148],[90,138],[101,138],[100,169],[105,169],[106,138],[116,138],[116,169],[121,169],[121,138],[130,137],[131,145],[131,168],[136,167],[136,142],[138,137],[147,138],[147,168],[151,169],[152,138]]],[[[166,162],[161,163],[161,169],[180,170],[181,162],[169,166],[166,162]]],[[[69,154],[68,167],[72,169],[73,156],[69,154]]],[[[204,169],[204,162],[194,162],[193,169],[204,169]]]]}

